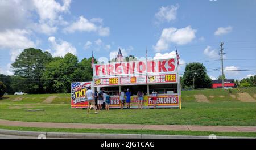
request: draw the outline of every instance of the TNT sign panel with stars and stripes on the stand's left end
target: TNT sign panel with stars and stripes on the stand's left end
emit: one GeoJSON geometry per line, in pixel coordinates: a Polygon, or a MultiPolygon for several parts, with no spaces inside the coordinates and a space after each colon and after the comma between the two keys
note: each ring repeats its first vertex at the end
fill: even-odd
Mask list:
{"type": "Polygon", "coordinates": [[[88,105],[85,92],[92,82],[71,83],[71,108],[84,108],[88,105]]]}

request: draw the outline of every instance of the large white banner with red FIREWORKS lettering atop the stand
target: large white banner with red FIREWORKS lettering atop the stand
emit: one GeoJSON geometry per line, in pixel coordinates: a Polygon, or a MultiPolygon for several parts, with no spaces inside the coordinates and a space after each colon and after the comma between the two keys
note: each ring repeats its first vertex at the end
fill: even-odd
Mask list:
{"type": "Polygon", "coordinates": [[[94,64],[93,77],[141,74],[176,74],[177,58],[94,64]]]}

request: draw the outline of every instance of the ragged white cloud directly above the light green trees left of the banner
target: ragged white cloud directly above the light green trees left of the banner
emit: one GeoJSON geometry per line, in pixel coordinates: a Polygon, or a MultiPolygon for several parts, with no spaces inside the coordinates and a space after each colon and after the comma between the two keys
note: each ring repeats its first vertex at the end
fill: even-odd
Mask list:
{"type": "Polygon", "coordinates": [[[67,41],[60,41],[59,44],[56,42],[55,37],[51,36],[48,38],[48,41],[51,42],[52,45],[52,49],[55,50],[55,52],[53,52],[53,57],[56,56],[62,56],[64,57],[65,54],[67,53],[72,53],[72,54],[77,54],[76,52],[76,48],[72,46],[72,44],[70,44],[67,41]]]}

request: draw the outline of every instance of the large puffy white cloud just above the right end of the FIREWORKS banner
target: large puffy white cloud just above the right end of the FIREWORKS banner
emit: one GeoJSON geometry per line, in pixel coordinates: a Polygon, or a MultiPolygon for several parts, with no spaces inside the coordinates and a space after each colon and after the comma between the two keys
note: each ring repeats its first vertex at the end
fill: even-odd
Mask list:
{"type": "Polygon", "coordinates": [[[189,25],[185,28],[164,28],[160,39],[153,48],[156,52],[168,50],[171,43],[184,45],[191,42],[195,37],[196,29],[192,29],[189,25]]]}

